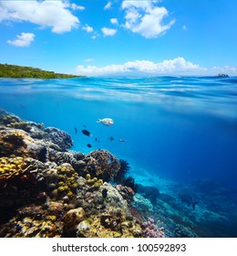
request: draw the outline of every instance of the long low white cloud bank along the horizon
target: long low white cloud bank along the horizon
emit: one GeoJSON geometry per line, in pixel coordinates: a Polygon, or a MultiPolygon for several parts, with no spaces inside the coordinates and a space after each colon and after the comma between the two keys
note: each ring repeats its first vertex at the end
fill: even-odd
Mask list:
{"type": "Polygon", "coordinates": [[[193,64],[183,58],[175,58],[163,60],[162,62],[154,63],[149,60],[129,61],[121,65],[109,65],[98,68],[96,66],[77,66],[77,73],[86,76],[104,76],[116,74],[194,74],[203,73],[207,69],[201,68],[197,64],[193,64]]]}

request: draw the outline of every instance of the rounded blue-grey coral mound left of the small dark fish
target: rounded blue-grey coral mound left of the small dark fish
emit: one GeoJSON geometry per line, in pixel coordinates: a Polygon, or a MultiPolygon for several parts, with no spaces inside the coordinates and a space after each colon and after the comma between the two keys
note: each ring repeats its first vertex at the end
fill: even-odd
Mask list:
{"type": "Polygon", "coordinates": [[[44,132],[45,140],[57,144],[61,151],[67,151],[73,145],[71,136],[64,131],[55,127],[47,127],[44,132]]]}

